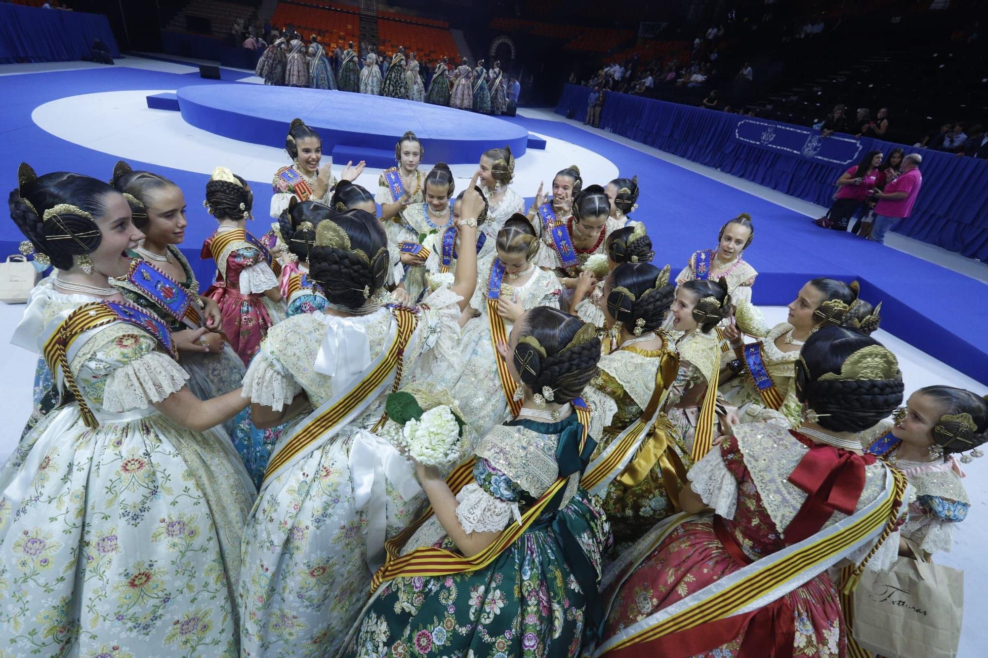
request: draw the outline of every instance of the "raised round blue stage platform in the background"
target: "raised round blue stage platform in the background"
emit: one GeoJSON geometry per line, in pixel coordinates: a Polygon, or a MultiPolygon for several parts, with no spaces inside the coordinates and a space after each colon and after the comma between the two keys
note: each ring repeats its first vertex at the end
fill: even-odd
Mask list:
{"type": "Polygon", "coordinates": [[[333,161],[394,164],[394,144],[406,130],[422,140],[424,161],[468,164],[495,146],[525,154],[529,131],[520,125],[402,99],[350,92],[263,85],[195,85],[178,90],[186,123],[208,132],[266,146],[285,146],[288,123],[298,118],[322,137],[333,161]]]}

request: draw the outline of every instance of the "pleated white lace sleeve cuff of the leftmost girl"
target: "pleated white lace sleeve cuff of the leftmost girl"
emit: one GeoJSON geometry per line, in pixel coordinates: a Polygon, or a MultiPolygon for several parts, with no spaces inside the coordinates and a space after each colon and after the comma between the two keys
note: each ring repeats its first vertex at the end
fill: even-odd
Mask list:
{"type": "Polygon", "coordinates": [[[103,390],[103,410],[124,413],[146,409],[182,390],[188,378],[189,373],[174,359],[149,352],[110,373],[103,390]]]}

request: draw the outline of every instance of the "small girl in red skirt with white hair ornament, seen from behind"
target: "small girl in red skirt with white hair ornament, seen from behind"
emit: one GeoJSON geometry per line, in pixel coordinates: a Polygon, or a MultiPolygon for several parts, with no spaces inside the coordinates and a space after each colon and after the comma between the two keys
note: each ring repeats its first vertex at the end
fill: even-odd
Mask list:
{"type": "Polygon", "coordinates": [[[219,226],[203,244],[203,258],[216,262],[216,281],[206,296],[219,305],[223,333],[245,366],[285,317],[271,252],[246,228],[253,205],[247,181],[216,167],[206,183],[205,206],[219,226]]]}

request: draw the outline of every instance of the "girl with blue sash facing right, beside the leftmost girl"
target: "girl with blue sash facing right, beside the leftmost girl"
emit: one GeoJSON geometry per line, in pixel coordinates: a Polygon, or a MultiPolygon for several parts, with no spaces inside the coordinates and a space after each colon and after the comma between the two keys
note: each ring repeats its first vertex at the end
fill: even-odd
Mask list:
{"type": "MultiPolygon", "coordinates": [[[[219,306],[200,295],[196,275],[176,246],[184,241],[189,223],[182,190],[157,174],[133,171],[123,161],[114,167],[112,185],[124,194],[134,226],[144,233],[132,252],[138,260],[114,285],[128,301],[150,309],[168,325],[181,353],[179,365],[189,373],[189,388],[198,398],[208,400],[239,388],[244,365],[219,333],[219,306]],[[206,333],[201,331],[204,327],[206,333]]],[[[233,421],[224,425],[227,433],[233,427],[233,421]]]]}

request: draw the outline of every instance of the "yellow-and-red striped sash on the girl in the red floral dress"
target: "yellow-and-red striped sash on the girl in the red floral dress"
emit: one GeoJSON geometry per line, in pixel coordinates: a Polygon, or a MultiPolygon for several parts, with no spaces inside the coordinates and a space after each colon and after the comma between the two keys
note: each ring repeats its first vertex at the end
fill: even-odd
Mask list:
{"type": "MultiPolygon", "coordinates": [[[[749,567],[742,569],[742,572],[749,571],[747,575],[727,584],[726,587],[719,589],[706,599],[683,608],[676,614],[642,628],[617,642],[605,643],[596,655],[618,652],[636,644],[651,642],[672,633],[695,628],[703,623],[741,614],[746,606],[763,597],[770,597],[774,590],[781,588],[787,581],[799,578],[800,574],[810,573],[810,577],[812,577],[815,575],[811,571],[814,565],[823,562],[828,557],[846,552],[855,544],[865,540],[868,535],[872,535],[877,528],[884,526],[884,531],[878,537],[874,548],[861,564],[852,569],[847,587],[853,588],[856,585],[856,579],[860,579],[868,559],[890,534],[889,529],[894,530],[898,521],[898,513],[905,495],[907,482],[906,478],[894,468],[889,468],[886,472],[892,478],[892,486],[886,487],[885,498],[875,505],[869,513],[863,514],[860,519],[853,521],[843,530],[836,533],[824,531],[821,533],[824,536],[815,541],[806,539],[802,542],[805,545],[801,545],[781,559],[773,561],[771,557],[767,557],[754,562],[749,567]]],[[[849,518],[848,521],[851,519],[853,517],[849,518]]],[[[805,580],[803,579],[801,582],[805,582],[805,580]]],[[[772,597],[767,603],[778,598],[779,596],[772,597]]]]}

